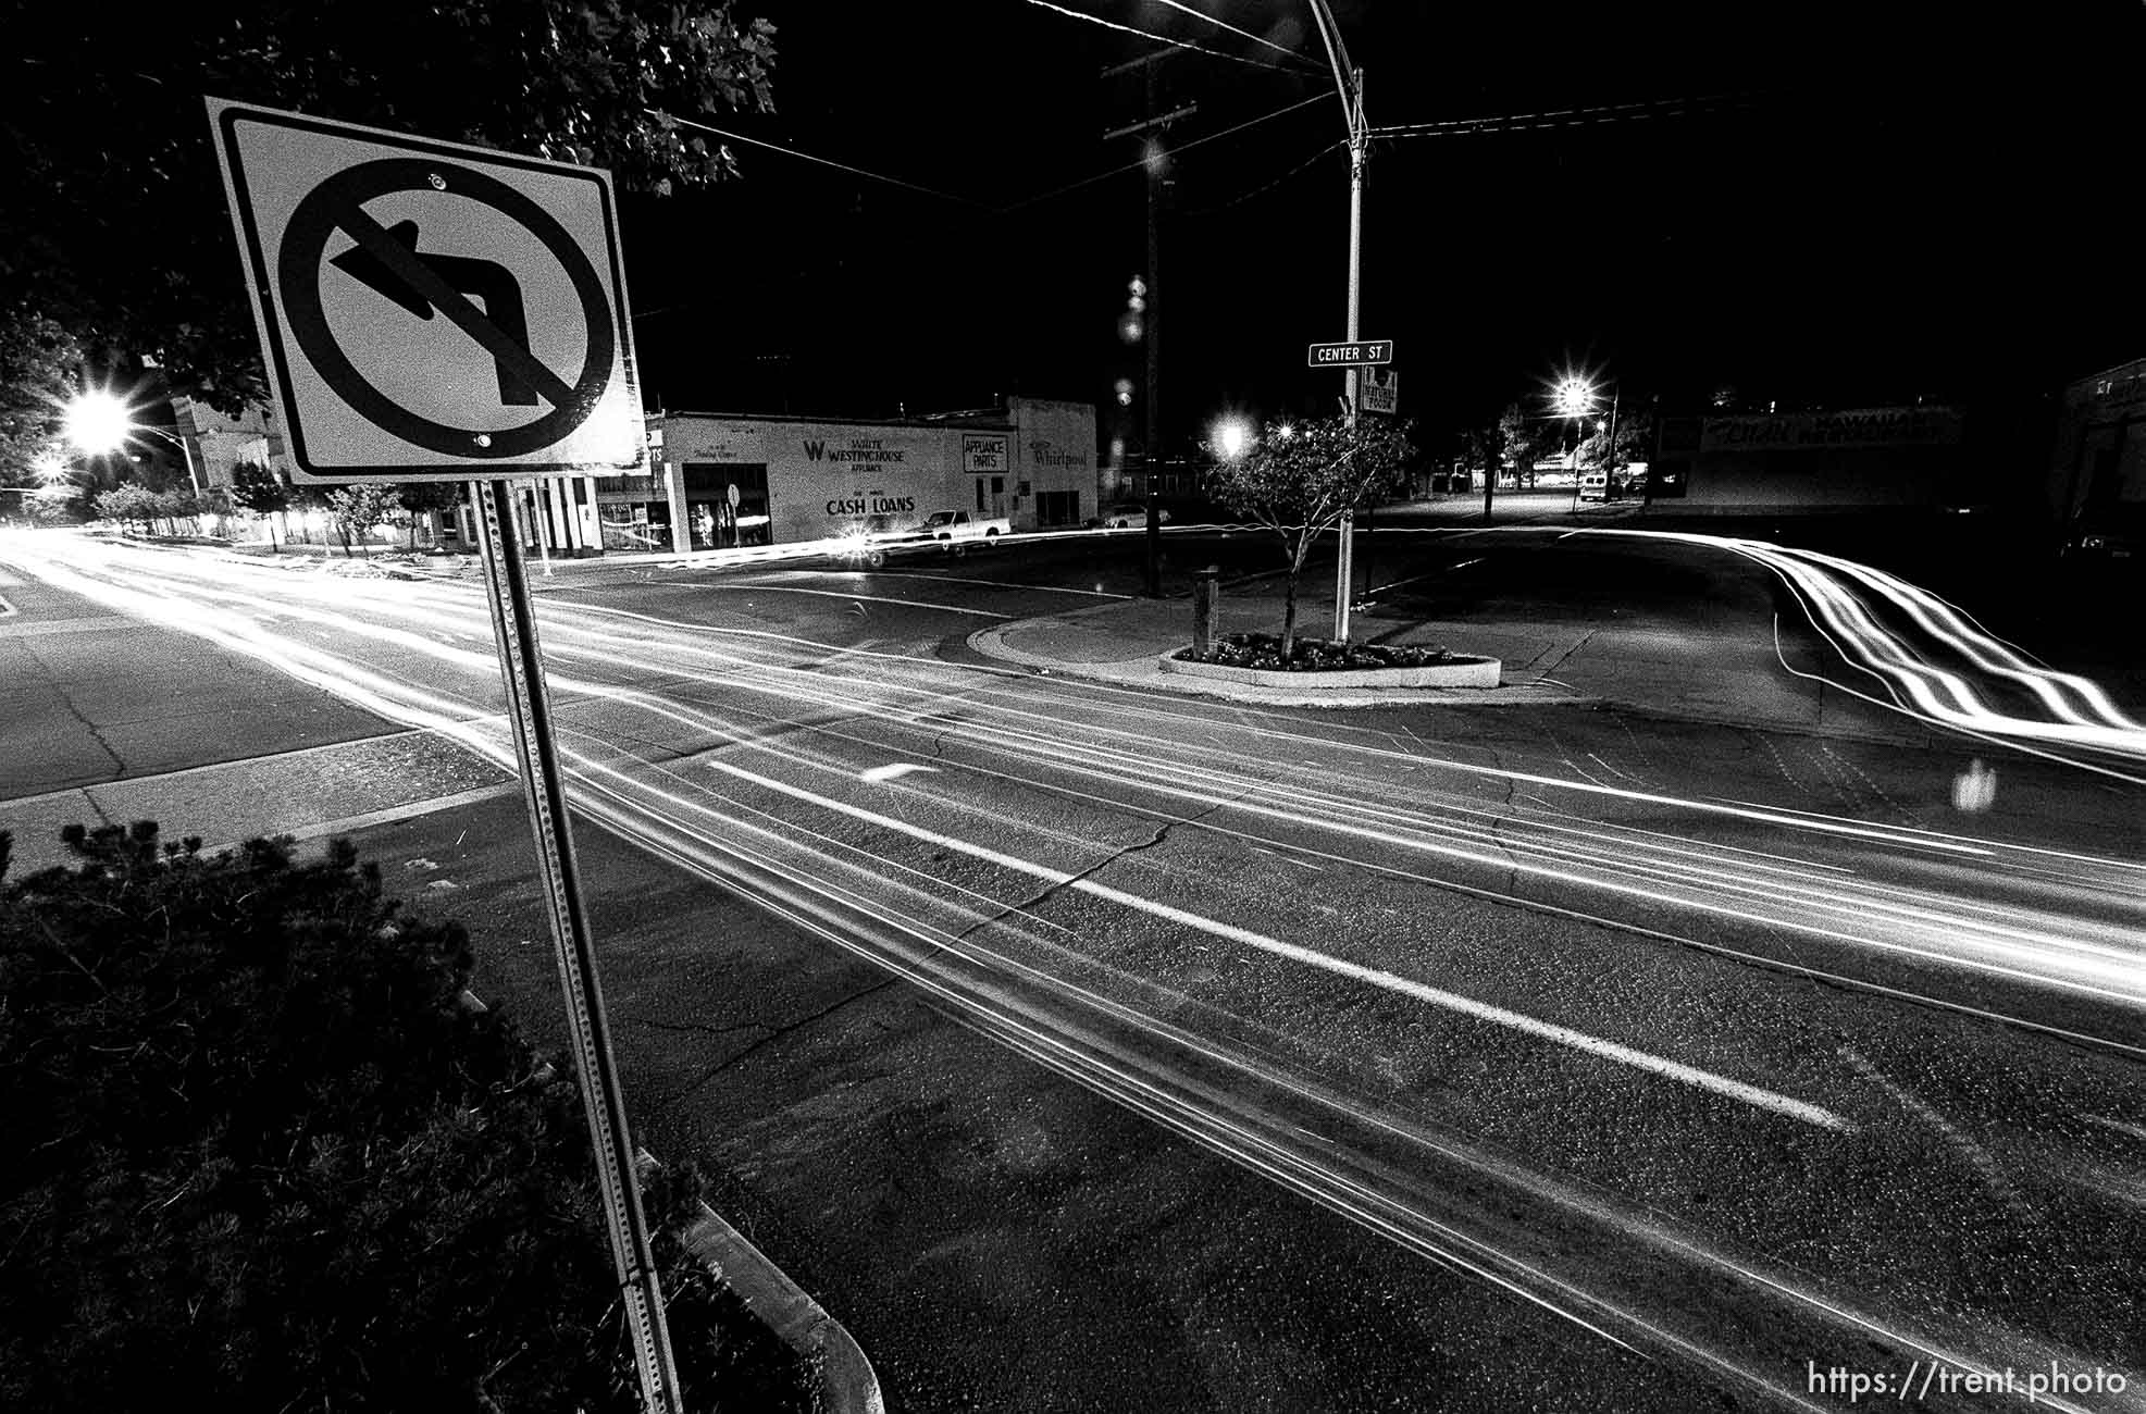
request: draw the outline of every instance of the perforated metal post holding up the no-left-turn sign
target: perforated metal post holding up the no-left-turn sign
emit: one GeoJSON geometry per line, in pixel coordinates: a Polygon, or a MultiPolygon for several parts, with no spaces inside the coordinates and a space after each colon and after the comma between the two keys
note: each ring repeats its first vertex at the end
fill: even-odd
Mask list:
{"type": "Polygon", "coordinates": [[[627,1129],[627,1099],[612,1058],[612,1028],[603,1015],[603,987],[597,981],[597,948],[582,908],[582,871],[567,820],[567,779],[552,738],[552,702],[536,646],[536,607],[521,564],[521,536],[513,517],[502,517],[500,502],[498,481],[476,483],[485,599],[491,603],[491,633],[500,646],[500,676],[506,678],[506,723],[515,736],[515,755],[521,760],[521,787],[528,796],[530,830],[536,835],[558,978],[567,993],[567,1032],[573,1039],[588,1133],[597,1148],[597,1184],[603,1189],[603,1212],[609,1219],[612,1260],[627,1307],[627,1335],[633,1339],[633,1358],[642,1371],[644,1405],[650,1414],[682,1414],[678,1365],[663,1322],[663,1281],[648,1244],[648,1219],[642,1214],[633,1139],[627,1129]]]}

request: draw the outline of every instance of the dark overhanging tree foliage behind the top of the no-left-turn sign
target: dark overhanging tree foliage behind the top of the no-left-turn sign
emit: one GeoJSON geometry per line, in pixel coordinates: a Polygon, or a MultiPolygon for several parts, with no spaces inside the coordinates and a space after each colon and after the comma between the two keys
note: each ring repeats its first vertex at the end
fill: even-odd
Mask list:
{"type": "Polygon", "coordinates": [[[775,30],[732,0],[0,0],[0,309],[152,354],[174,393],[262,401],[202,97],[612,167],[667,193],[736,172],[678,118],[773,109],[775,30]]]}

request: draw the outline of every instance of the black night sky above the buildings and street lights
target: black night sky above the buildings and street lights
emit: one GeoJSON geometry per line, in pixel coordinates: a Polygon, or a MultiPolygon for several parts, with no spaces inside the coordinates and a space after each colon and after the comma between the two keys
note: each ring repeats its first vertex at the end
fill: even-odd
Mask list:
{"type": "MultiPolygon", "coordinates": [[[[1331,408],[1303,345],[1346,311],[1346,129],[1303,0],[1064,9],[1174,51],[1157,303],[1174,440],[1223,410],[1331,408]]],[[[740,131],[942,200],[740,148],[745,180],[627,208],[652,401],[876,416],[1026,391],[1107,403],[1146,266],[1152,54],[1024,0],[764,2],[775,118],[740,131]],[[1045,197],[1045,200],[1034,200],[1045,197]],[[1009,210],[1011,208],[1011,210],[1009,210]]],[[[1496,416],[1567,360],[1633,395],[1869,403],[2041,393],[2146,352],[2133,255],[2135,2],[1556,6],[1335,0],[1373,127],[1363,335],[1403,412],[1496,416]],[[1640,107],[1629,107],[1640,105],[1640,107]],[[1646,116],[1640,116],[1646,114],[1646,116]]]]}

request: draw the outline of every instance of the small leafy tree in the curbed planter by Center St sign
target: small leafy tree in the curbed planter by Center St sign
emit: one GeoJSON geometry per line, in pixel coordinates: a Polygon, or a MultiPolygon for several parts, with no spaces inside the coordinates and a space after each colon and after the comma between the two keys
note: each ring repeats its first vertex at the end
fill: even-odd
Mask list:
{"type": "Polygon", "coordinates": [[[1408,423],[1365,416],[1270,423],[1238,457],[1206,472],[1208,494],[1281,539],[1288,590],[1281,612],[1281,659],[1296,652],[1296,577],[1311,545],[1358,511],[1401,485],[1412,446],[1408,423]]]}

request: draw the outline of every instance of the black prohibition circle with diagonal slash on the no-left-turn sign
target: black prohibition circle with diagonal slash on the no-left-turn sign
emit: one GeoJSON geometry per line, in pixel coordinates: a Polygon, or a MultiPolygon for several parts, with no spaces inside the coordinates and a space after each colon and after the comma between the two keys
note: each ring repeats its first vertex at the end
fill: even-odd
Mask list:
{"type": "Polygon", "coordinates": [[[455,457],[524,457],[564,442],[603,401],[612,382],[618,330],[603,279],[579,242],[526,193],[474,167],[425,159],[382,159],[358,163],[326,178],[298,202],[283,227],[277,253],[277,290],[292,337],[320,378],[369,423],[429,451],[455,457]],[[588,352],[573,384],[547,369],[519,328],[521,285],[513,273],[485,260],[416,253],[416,230],[395,232],[365,212],[365,202],[393,193],[444,191],[468,197],[521,225],[552,253],[573,285],[582,307],[588,352]],[[328,260],[335,232],[356,240],[354,251],[328,260]],[[427,418],[382,395],[335,339],[320,298],[324,264],[335,264],[380,290],[403,309],[429,318],[438,309],[470,335],[498,365],[500,403],[552,410],[517,427],[472,431],[427,418]],[[474,285],[474,288],[472,288],[474,285]],[[485,300],[479,311],[470,296],[485,300]],[[509,298],[511,296],[511,298],[509,298]]]}

